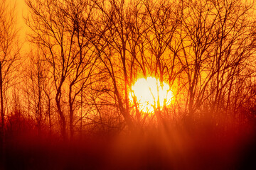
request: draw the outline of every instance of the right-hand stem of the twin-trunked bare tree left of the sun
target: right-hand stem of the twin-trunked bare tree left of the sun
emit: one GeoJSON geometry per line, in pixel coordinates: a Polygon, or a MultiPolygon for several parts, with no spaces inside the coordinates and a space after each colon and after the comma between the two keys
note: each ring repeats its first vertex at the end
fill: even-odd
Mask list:
{"type": "MultiPolygon", "coordinates": [[[[67,1],[68,6],[70,6],[69,16],[70,26],[68,26],[70,31],[74,30],[74,41],[75,47],[73,47],[73,68],[72,74],[70,74],[69,80],[69,94],[68,102],[70,109],[70,137],[74,135],[74,111],[75,103],[79,105],[78,95],[83,89],[90,84],[88,79],[92,75],[95,69],[95,62],[97,62],[97,57],[95,57],[95,48],[93,47],[91,41],[91,35],[88,29],[92,26],[92,15],[94,14],[93,4],[90,1],[67,1]]],[[[82,107],[81,107],[82,108],[82,107]]],[[[82,120],[81,120],[82,121],[82,120]]]]}

